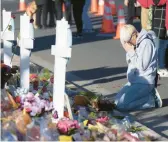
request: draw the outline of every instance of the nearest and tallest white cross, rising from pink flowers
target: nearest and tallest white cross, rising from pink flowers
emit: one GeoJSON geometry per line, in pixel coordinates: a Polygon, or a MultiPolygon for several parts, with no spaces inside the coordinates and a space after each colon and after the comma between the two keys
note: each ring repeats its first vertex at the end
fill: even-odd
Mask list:
{"type": "MultiPolygon", "coordinates": [[[[64,116],[64,99],[66,98],[66,100],[68,101],[67,96],[65,97],[65,76],[67,58],[71,57],[71,46],[72,33],[70,26],[68,25],[68,22],[63,18],[62,20],[57,21],[56,45],[52,45],[51,49],[51,54],[55,56],[53,107],[54,110],[57,111],[59,118],[62,118],[64,116]]],[[[53,119],[53,122],[56,121],[57,120],[53,119]]]]}

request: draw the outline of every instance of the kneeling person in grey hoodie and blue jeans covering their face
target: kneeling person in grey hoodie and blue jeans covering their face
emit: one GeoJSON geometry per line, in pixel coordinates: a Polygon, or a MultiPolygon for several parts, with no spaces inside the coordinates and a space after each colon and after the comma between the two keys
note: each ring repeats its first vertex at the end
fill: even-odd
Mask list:
{"type": "Polygon", "coordinates": [[[134,26],[125,25],[120,41],[126,51],[128,83],[119,91],[115,103],[123,111],[162,107],[155,89],[157,49],[155,33],[144,29],[139,33],[134,26]]]}

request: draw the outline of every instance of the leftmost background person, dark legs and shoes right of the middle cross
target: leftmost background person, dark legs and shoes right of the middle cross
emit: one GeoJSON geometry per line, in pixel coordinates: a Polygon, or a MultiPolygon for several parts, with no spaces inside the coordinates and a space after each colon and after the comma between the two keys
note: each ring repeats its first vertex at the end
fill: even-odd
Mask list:
{"type": "Polygon", "coordinates": [[[37,5],[37,12],[36,12],[36,28],[47,28],[47,0],[35,0],[37,5]],[[41,23],[42,17],[42,23],[41,23]]]}

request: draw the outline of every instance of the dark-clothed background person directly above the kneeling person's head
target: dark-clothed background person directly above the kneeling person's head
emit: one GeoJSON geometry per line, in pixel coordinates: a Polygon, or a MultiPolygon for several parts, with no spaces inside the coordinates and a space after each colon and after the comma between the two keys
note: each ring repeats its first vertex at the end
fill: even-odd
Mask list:
{"type": "Polygon", "coordinates": [[[124,4],[127,6],[127,24],[133,25],[134,18],[140,17],[141,7],[135,7],[137,0],[125,0],[124,4]]]}

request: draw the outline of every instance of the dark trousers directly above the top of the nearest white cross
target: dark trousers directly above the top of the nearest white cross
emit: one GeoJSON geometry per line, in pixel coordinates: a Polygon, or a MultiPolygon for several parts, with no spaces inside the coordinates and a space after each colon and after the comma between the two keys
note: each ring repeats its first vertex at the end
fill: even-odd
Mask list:
{"type": "Polygon", "coordinates": [[[63,18],[62,5],[65,5],[65,18],[71,22],[71,1],[70,0],[55,0],[56,18],[61,20],[63,18]]]}

